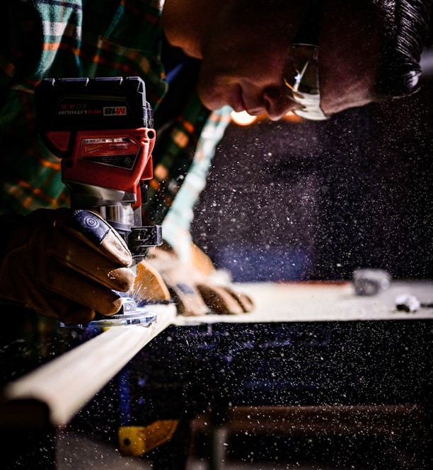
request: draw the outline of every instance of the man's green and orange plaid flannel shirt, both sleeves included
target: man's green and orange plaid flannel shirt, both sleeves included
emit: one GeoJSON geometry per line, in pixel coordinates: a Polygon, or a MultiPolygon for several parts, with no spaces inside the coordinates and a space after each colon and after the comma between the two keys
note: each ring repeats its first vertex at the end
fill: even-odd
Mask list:
{"type": "MultiPolygon", "coordinates": [[[[161,64],[162,8],[163,0],[7,2],[0,18],[0,213],[25,214],[69,202],[59,159],[35,131],[33,90],[40,80],[141,76],[156,110],[167,89],[161,64]]],[[[209,115],[193,91],[154,152],[146,214],[151,222],[166,219],[164,238],[177,249],[188,246],[192,207],[229,122],[226,111],[209,115]],[[188,172],[191,176],[185,178],[188,172]],[[166,217],[181,185],[182,204],[175,216],[166,217]]]]}

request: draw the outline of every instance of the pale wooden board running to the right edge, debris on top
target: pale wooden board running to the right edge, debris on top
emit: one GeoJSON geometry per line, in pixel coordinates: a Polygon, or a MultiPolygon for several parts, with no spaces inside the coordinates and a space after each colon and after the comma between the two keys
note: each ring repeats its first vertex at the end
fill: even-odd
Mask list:
{"type": "Polygon", "coordinates": [[[256,282],[235,285],[250,295],[254,311],[245,315],[178,316],[176,325],[291,321],[374,321],[433,319],[433,308],[396,311],[396,297],[415,295],[432,304],[433,282],[393,282],[372,296],[355,294],[351,282],[256,282]]]}

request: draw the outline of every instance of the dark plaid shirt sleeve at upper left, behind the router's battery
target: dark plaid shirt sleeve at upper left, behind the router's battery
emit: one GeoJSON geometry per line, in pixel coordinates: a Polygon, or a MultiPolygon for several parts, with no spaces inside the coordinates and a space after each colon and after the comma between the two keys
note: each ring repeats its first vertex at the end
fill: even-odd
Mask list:
{"type": "Polygon", "coordinates": [[[153,106],[161,101],[166,84],[158,59],[160,4],[6,2],[0,16],[0,213],[69,205],[60,159],[48,151],[35,128],[33,92],[40,80],[141,76],[148,101],[153,106]]]}

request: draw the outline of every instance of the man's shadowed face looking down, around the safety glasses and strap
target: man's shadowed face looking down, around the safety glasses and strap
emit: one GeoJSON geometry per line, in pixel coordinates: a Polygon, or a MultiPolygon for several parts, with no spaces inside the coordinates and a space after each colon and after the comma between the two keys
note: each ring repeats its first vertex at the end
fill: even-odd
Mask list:
{"type": "MultiPolygon", "coordinates": [[[[211,110],[231,105],[236,111],[266,113],[277,120],[299,107],[284,86],[283,70],[294,73],[288,51],[308,2],[293,2],[290,11],[284,12],[228,4],[215,18],[202,49],[200,98],[211,110]]],[[[323,0],[321,4],[321,108],[331,115],[373,101],[382,20],[370,1],[323,0]]]]}

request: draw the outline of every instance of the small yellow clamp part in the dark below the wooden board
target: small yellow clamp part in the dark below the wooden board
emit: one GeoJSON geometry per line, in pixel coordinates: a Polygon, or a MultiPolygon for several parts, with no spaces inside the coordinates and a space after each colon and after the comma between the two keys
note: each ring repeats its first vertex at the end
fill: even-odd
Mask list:
{"type": "Polygon", "coordinates": [[[119,451],[124,457],[139,457],[171,440],[178,420],[156,420],[147,426],[120,426],[119,451]]]}

